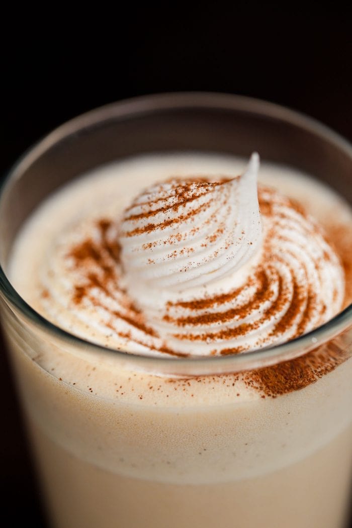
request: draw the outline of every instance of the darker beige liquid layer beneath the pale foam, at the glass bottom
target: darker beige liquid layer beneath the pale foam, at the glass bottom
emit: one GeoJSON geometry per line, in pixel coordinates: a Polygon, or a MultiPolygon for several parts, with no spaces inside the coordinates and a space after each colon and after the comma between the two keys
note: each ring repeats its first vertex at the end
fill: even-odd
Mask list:
{"type": "Polygon", "coordinates": [[[55,526],[95,528],[102,522],[106,528],[343,525],[351,478],[352,457],[346,460],[345,456],[350,452],[350,429],[289,467],[214,485],[165,484],[120,476],[74,457],[35,426],[32,433],[55,526]],[[341,452],[344,456],[337,456],[341,452]],[[338,478],[329,478],[332,475],[338,478]]]}

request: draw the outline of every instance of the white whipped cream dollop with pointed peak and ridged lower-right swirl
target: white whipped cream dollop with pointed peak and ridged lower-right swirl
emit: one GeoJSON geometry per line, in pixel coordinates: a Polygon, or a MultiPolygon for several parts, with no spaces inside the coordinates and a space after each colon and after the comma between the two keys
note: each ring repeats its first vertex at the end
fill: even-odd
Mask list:
{"type": "Polygon", "coordinates": [[[125,285],[172,351],[233,354],[287,341],[335,315],[344,273],[317,224],[270,189],[259,156],[230,181],[148,188],[120,228],[125,285]]]}

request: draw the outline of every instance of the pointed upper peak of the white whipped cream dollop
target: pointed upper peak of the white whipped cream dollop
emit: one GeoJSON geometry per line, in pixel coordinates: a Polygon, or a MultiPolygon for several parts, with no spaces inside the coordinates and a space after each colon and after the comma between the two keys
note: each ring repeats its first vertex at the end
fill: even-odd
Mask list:
{"type": "Polygon", "coordinates": [[[241,176],[173,179],[142,192],[120,226],[127,285],[181,292],[239,271],[262,241],[258,169],[254,153],[241,176]]]}

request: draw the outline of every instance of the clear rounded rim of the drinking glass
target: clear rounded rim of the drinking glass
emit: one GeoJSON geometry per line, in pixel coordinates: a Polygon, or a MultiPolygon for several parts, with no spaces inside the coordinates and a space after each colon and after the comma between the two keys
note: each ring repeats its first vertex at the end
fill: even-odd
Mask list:
{"type": "MultiPolygon", "coordinates": [[[[17,178],[20,178],[25,172],[26,167],[30,166],[35,159],[44,154],[47,149],[58,143],[64,137],[72,135],[85,127],[94,124],[97,125],[99,122],[110,119],[140,116],[143,113],[177,108],[237,110],[289,122],[290,124],[310,130],[313,134],[333,143],[348,155],[352,164],[352,145],[348,140],[319,121],[295,110],[261,99],[227,93],[160,93],[109,103],[108,105],[85,112],[55,128],[51,133],[39,140],[39,142],[28,148],[20,159],[9,169],[0,188],[0,208],[6,200],[6,192],[11,183],[16,181],[17,178]]],[[[282,361],[294,359],[313,350],[313,348],[326,343],[352,325],[352,304],[350,304],[343,312],[337,314],[324,325],[288,342],[259,348],[243,354],[225,356],[159,356],[151,355],[150,353],[131,353],[116,348],[105,347],[92,341],[84,340],[56,326],[26,303],[8,280],[1,265],[0,291],[7,305],[17,309],[22,316],[30,320],[36,327],[59,338],[59,340],[70,345],[78,346],[84,351],[99,351],[100,354],[113,355],[116,359],[119,358],[122,360],[123,363],[127,362],[130,365],[139,365],[152,372],[155,371],[167,375],[184,375],[185,373],[189,375],[203,375],[238,372],[281,363],[282,361]]]]}

